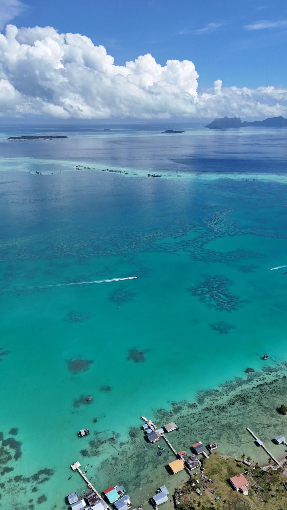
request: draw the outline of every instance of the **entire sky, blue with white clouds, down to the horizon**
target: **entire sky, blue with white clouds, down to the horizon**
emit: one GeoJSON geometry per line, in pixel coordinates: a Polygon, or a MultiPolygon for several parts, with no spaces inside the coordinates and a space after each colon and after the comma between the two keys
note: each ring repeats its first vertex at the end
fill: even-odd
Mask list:
{"type": "Polygon", "coordinates": [[[286,0],[0,0],[0,31],[0,115],[287,115],[286,0]]]}

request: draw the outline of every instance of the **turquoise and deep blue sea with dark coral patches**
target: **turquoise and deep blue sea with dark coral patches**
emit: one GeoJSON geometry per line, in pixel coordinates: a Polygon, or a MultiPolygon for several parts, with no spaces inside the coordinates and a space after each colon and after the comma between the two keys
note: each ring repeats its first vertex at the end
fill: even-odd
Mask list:
{"type": "Polygon", "coordinates": [[[66,508],[76,461],[134,506],[172,493],[141,415],[188,452],[267,463],[250,426],[286,455],[287,131],[104,127],[0,129],[3,508],[66,508]],[[46,133],[68,139],[7,141],[46,133]]]}

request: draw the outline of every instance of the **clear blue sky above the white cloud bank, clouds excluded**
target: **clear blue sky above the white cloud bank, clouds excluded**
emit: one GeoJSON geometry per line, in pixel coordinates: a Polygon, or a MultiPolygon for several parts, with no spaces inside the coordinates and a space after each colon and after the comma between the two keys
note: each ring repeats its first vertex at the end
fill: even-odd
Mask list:
{"type": "Polygon", "coordinates": [[[286,82],[286,0],[26,0],[17,26],[52,25],[87,35],[124,64],[151,53],[192,60],[200,88],[220,78],[226,87],[286,82]],[[258,21],[273,27],[246,29],[258,21]],[[285,23],[284,23],[285,22],[285,23]],[[268,23],[266,23],[268,24],[268,23]]]}

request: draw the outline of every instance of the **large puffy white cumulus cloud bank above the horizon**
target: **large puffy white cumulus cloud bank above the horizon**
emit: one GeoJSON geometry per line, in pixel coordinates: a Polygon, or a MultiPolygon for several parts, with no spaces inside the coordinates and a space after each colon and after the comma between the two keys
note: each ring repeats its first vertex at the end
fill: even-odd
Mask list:
{"type": "Polygon", "coordinates": [[[53,27],[0,34],[0,115],[58,118],[169,118],[287,115],[287,87],[222,87],[198,91],[192,61],[152,55],[124,66],[104,46],[53,27]]]}

